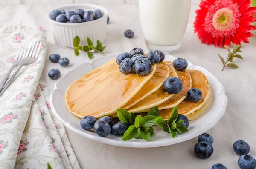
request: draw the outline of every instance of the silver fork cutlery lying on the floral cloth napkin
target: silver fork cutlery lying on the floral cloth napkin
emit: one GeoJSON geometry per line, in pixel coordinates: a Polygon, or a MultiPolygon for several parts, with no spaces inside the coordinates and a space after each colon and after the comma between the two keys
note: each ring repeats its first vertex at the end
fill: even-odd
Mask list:
{"type": "Polygon", "coordinates": [[[3,92],[8,88],[8,86],[10,85],[12,80],[14,80],[15,76],[20,71],[20,69],[23,65],[33,63],[33,62],[35,62],[35,60],[37,60],[40,49],[41,49],[41,41],[32,42],[29,46],[25,46],[25,47],[21,46],[20,47],[20,49],[18,51],[18,54],[16,56],[17,60],[13,60],[14,63],[12,65],[11,69],[9,69],[9,72],[7,72],[6,77],[2,81],[2,84],[0,86],[1,87],[0,88],[0,95],[2,95],[3,92]],[[6,82],[6,80],[8,79],[9,74],[12,72],[14,67],[17,66],[17,65],[19,65],[19,66],[16,69],[15,73],[12,74],[12,76],[6,82]]]}

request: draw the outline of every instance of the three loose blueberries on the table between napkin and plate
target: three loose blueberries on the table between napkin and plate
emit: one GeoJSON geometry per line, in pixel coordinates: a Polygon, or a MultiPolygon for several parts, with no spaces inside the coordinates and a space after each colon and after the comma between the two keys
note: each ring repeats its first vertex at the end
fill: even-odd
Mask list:
{"type": "MultiPolygon", "coordinates": [[[[63,67],[66,67],[69,64],[68,58],[61,58],[59,54],[51,54],[49,58],[53,63],[58,62],[63,67]]],[[[48,73],[48,76],[51,79],[58,79],[61,76],[61,72],[58,69],[51,69],[48,73]]]]}

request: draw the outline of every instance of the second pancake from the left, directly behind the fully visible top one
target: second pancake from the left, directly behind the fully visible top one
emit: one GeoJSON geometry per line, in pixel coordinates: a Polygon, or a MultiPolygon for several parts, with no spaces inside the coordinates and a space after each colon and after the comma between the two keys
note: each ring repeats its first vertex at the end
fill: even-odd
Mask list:
{"type": "Polygon", "coordinates": [[[122,109],[128,109],[138,103],[140,100],[143,100],[145,97],[150,95],[151,93],[155,92],[159,89],[162,85],[164,80],[166,80],[170,74],[169,68],[164,62],[160,62],[157,65],[157,70],[154,72],[151,79],[148,80],[147,83],[140,89],[139,92],[136,93],[122,109]]]}

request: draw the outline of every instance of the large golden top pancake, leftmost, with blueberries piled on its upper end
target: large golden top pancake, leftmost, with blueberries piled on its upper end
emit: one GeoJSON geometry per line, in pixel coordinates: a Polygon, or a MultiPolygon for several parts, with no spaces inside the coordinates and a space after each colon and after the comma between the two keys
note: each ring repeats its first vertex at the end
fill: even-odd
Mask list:
{"type": "Polygon", "coordinates": [[[116,112],[151,79],[156,67],[152,65],[146,76],[122,74],[113,59],[72,83],[66,91],[66,106],[80,118],[87,115],[99,118],[116,112]]]}

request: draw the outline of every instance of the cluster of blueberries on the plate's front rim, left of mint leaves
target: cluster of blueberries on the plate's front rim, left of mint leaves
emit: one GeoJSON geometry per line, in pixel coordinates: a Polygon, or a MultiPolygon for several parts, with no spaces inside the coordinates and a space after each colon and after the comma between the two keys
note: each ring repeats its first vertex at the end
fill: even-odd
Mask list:
{"type": "Polygon", "coordinates": [[[114,135],[122,135],[127,129],[128,124],[121,121],[114,124],[113,118],[103,116],[97,120],[94,116],[85,116],[80,121],[82,129],[93,129],[100,137],[107,137],[110,132],[114,135]]]}

